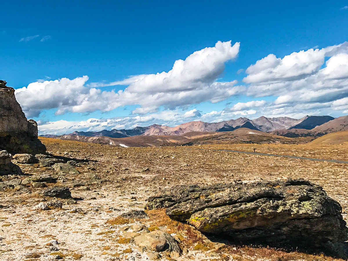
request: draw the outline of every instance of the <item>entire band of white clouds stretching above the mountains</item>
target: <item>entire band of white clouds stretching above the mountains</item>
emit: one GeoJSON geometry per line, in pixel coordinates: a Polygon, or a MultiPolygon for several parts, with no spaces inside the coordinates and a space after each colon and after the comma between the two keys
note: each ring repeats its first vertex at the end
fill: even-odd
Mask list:
{"type": "Polygon", "coordinates": [[[168,72],[131,76],[109,84],[86,84],[87,76],[38,81],[17,89],[16,97],[27,117],[38,116],[47,109],[55,109],[56,114],[61,115],[105,112],[136,105],[133,116],[42,124],[39,129],[47,133],[59,130],[69,133],[69,126],[74,126],[74,130],[98,130],[154,123],[173,126],[190,120],[216,122],[262,115],[301,118],[305,114],[333,111],[348,113],[348,42],[301,50],[284,57],[269,54],[245,70],[242,85],[236,80],[217,81],[225,63],[235,60],[238,53],[238,42],[231,45],[230,41],[219,41],[214,47],[175,61],[168,72]],[[118,91],[103,90],[105,86],[120,85],[127,87],[118,91]],[[189,109],[192,104],[217,103],[238,95],[249,97],[250,101],[237,102],[222,111],[189,109]]]}

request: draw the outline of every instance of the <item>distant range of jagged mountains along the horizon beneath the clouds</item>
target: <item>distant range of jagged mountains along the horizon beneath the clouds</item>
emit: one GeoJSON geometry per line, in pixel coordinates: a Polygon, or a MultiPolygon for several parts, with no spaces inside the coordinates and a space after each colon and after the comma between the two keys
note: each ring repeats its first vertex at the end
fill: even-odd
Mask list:
{"type": "MultiPolygon", "coordinates": [[[[289,117],[267,118],[262,116],[254,120],[250,120],[248,118],[238,118],[236,120],[228,120],[213,123],[203,121],[190,121],[180,124],[176,127],[153,124],[147,127],[135,127],[134,129],[112,129],[102,130],[98,132],[74,131],[73,133],[64,135],[77,135],[86,137],[106,136],[111,138],[125,138],[137,135],[183,135],[189,132],[229,132],[239,128],[248,128],[251,130],[268,132],[280,136],[300,137],[318,135],[320,136],[329,132],[345,130],[346,126],[342,126],[345,125],[346,121],[348,121],[348,116],[343,116],[336,119],[331,116],[305,116],[301,119],[293,119],[289,117]]],[[[57,137],[61,135],[47,134],[41,136],[57,137]]]]}

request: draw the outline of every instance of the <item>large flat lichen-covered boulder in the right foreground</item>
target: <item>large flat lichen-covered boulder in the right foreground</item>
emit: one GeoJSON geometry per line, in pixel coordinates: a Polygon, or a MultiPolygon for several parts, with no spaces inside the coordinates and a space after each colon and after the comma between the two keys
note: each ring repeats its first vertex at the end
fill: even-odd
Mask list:
{"type": "Polygon", "coordinates": [[[151,197],[174,220],[236,244],[286,247],[346,257],[340,204],[305,180],[175,186],[151,197]]]}

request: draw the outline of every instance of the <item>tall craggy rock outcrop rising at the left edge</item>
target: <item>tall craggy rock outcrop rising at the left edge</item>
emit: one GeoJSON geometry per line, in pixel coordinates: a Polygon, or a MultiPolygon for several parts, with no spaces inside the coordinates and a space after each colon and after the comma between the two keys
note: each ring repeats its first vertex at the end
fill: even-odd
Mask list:
{"type": "Polygon", "coordinates": [[[45,152],[45,145],[38,140],[37,123],[25,118],[15,90],[6,84],[0,80],[0,149],[12,155],[45,152]]]}

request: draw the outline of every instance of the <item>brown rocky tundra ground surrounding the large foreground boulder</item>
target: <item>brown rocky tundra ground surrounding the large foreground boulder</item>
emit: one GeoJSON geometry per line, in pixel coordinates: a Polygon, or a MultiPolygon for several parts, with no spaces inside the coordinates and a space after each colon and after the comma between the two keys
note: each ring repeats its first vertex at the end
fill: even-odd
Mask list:
{"type": "Polygon", "coordinates": [[[169,219],[164,209],[140,212],[150,196],[178,184],[307,179],[341,204],[348,221],[346,164],[211,150],[255,148],[256,152],[347,160],[347,145],[120,148],[41,141],[52,155],[65,163],[75,162],[54,168],[44,159],[34,164],[17,162],[23,175],[0,176],[0,260],[333,260],[269,247],[235,246],[169,219]],[[69,190],[47,191],[56,186],[69,190]],[[63,198],[51,197],[54,193],[63,198]],[[138,212],[121,216],[133,210],[138,212]],[[171,250],[160,252],[163,243],[171,250]]]}

